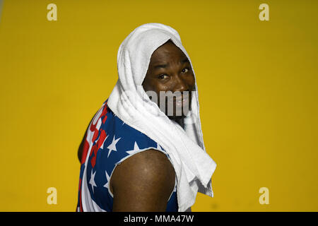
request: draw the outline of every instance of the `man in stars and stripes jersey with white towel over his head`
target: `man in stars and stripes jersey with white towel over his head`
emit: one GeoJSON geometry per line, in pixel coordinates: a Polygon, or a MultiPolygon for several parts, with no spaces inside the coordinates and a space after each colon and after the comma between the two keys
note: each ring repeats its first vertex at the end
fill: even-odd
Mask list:
{"type": "MultiPolygon", "coordinates": [[[[187,55],[184,54],[185,50],[182,51],[172,41],[175,35],[172,35],[172,38],[166,42],[161,40],[163,44],[160,44],[159,47],[153,44],[153,39],[156,37],[152,37],[153,33],[158,32],[165,37],[167,35],[165,34],[166,30],[175,32],[172,28],[161,24],[142,25],[131,32],[131,35],[126,38],[128,41],[124,41],[122,46],[119,47],[119,54],[117,55],[119,85],[120,89],[126,93],[118,92],[117,94],[116,87],[114,88],[110,98],[104,102],[102,108],[90,122],[78,149],[78,158],[82,164],[78,211],[189,211],[191,210],[191,204],[189,203],[194,202],[193,197],[189,198],[191,202],[185,203],[182,203],[181,199],[183,198],[179,198],[187,191],[191,191],[191,189],[184,189],[184,192],[181,192],[184,186],[180,186],[180,184],[184,184],[184,182],[185,186],[195,184],[194,188],[196,190],[199,189],[202,193],[211,195],[209,184],[204,188],[202,184],[193,183],[199,182],[199,177],[203,177],[204,173],[200,175],[199,172],[196,172],[196,169],[199,171],[200,166],[195,165],[195,158],[189,157],[187,160],[183,156],[187,153],[183,154],[181,148],[179,148],[184,146],[177,143],[179,138],[177,132],[172,132],[169,138],[160,139],[159,137],[164,136],[163,133],[170,133],[174,128],[182,130],[180,136],[185,139],[183,140],[184,143],[188,142],[200,149],[199,154],[203,157],[201,157],[202,161],[199,158],[197,161],[206,162],[210,171],[206,179],[208,177],[211,179],[211,172],[213,173],[216,165],[197,145],[199,143],[204,147],[203,140],[201,140],[201,143],[196,141],[196,144],[194,144],[195,139],[189,138],[190,135],[187,136],[187,133],[184,132],[193,130],[192,126],[184,124],[184,119],[189,117],[189,112],[191,113],[192,91],[196,88],[192,64],[187,55]],[[145,28],[153,32],[146,33],[142,30],[145,28]],[[148,56],[149,53],[151,54],[149,64],[147,64],[146,76],[141,83],[143,89],[141,93],[144,92],[148,95],[148,102],[139,98],[139,95],[133,98],[134,101],[129,100],[132,94],[138,93],[136,91],[137,85],[134,86],[132,82],[136,84],[139,81],[140,83],[141,80],[136,75],[142,75],[138,70],[148,56],[140,57],[138,56],[139,52],[130,51],[130,53],[136,53],[137,56],[129,60],[129,64],[132,66],[129,66],[129,71],[127,71],[129,51],[124,52],[122,50],[124,44],[126,44],[127,49],[134,47],[140,52],[146,52],[140,47],[141,42],[148,44],[150,49],[147,50],[148,56]],[[154,47],[156,49],[153,51],[154,47]],[[120,67],[121,57],[124,62],[122,68],[120,67]],[[142,60],[134,64],[135,58],[138,59],[138,57],[142,60]],[[136,67],[134,68],[134,66],[136,67]],[[138,72],[134,74],[136,71],[138,72]],[[134,78],[134,81],[131,78],[134,78]],[[126,83],[125,79],[128,79],[130,83],[126,83]],[[166,95],[163,96],[162,93],[166,95]],[[175,93],[178,95],[175,95],[175,93]],[[140,105],[138,105],[138,100],[140,105]],[[155,109],[155,106],[149,100],[155,103],[157,109],[160,109],[161,115],[149,113],[151,107],[155,109]],[[148,108],[142,108],[144,105],[148,108]],[[117,114],[114,114],[114,112],[117,112],[117,114]],[[126,114],[126,112],[130,114],[126,114]],[[139,118],[138,114],[141,114],[139,118]],[[147,124],[145,121],[148,118],[147,124]],[[158,120],[157,126],[155,126],[156,120],[158,120]],[[161,128],[165,124],[167,124],[166,130],[161,128]],[[175,136],[175,144],[167,141],[171,136],[175,136]],[[106,143],[108,145],[105,145],[106,143]],[[175,152],[173,151],[174,148],[175,152]],[[114,152],[116,153],[112,154],[114,152]],[[194,164],[190,163],[189,160],[193,160],[194,164]],[[189,163],[185,164],[184,162],[187,161],[189,163]],[[183,169],[182,166],[184,165],[189,167],[187,171],[183,169]],[[194,165],[193,170],[191,169],[192,165],[194,165]],[[194,175],[191,183],[184,181],[187,177],[182,177],[182,172],[183,174],[188,173],[187,177],[194,175]],[[83,182],[85,183],[83,184],[83,182]],[[82,188],[86,191],[83,191],[82,188]],[[179,192],[178,196],[177,191],[179,192]]],[[[177,40],[175,42],[177,43],[177,40]]],[[[145,97],[143,96],[143,98],[145,97]]],[[[199,136],[197,134],[199,133],[196,133],[196,136],[199,136]]],[[[193,148],[193,151],[196,148],[193,148]]],[[[190,193],[187,196],[191,196],[190,193]]],[[[187,196],[184,195],[185,198],[187,196]]]]}

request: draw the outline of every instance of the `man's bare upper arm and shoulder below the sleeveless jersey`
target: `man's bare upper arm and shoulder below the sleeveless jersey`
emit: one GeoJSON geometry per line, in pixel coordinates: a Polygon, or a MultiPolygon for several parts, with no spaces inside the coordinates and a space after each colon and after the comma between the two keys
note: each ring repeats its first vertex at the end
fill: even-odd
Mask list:
{"type": "Polygon", "coordinates": [[[113,211],[165,211],[175,186],[175,169],[164,153],[145,150],[114,169],[113,211]]]}

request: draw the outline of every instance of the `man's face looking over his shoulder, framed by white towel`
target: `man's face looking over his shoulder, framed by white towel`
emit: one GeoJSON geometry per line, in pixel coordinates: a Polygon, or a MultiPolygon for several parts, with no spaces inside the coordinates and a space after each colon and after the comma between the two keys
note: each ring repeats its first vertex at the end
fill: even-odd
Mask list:
{"type": "Polygon", "coordinates": [[[191,107],[194,83],[189,59],[173,42],[168,41],[153,52],[142,85],[146,92],[153,91],[157,94],[158,106],[165,105],[164,112],[167,117],[180,119],[191,107]],[[170,91],[176,95],[160,98],[160,91],[170,91]],[[168,112],[168,109],[173,109],[173,112],[168,112]],[[182,114],[179,114],[180,112],[182,114]]]}

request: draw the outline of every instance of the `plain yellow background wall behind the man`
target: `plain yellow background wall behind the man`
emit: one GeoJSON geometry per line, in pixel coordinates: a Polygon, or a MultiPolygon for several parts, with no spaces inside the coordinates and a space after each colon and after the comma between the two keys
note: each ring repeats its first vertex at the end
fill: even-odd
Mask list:
{"type": "Polygon", "coordinates": [[[318,1],[4,0],[0,210],[74,211],[77,148],[143,23],[175,28],[194,64],[214,198],[194,211],[318,210],[318,1]],[[57,21],[47,4],[57,4],[57,21]],[[269,4],[269,21],[259,5],[269,4]],[[57,188],[57,205],[47,188],[57,188]],[[259,189],[269,188],[269,205],[259,189]]]}

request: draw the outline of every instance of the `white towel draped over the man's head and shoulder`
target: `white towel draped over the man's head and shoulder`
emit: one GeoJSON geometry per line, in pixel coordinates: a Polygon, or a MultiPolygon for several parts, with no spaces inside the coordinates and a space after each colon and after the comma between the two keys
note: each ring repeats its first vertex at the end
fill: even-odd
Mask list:
{"type": "Polygon", "coordinates": [[[119,47],[119,79],[107,104],[119,119],[145,133],[167,151],[177,177],[178,211],[184,212],[194,205],[197,192],[213,197],[211,177],[216,163],[204,147],[196,82],[191,114],[184,119],[184,128],[161,112],[141,86],[151,55],[167,40],[172,40],[184,52],[192,66],[175,29],[160,23],[141,25],[119,47]]]}

